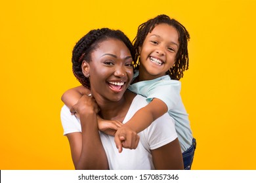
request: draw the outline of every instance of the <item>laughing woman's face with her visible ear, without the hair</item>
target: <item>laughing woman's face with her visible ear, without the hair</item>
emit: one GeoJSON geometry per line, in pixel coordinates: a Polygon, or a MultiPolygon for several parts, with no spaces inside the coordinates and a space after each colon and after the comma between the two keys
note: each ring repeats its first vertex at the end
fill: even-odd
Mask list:
{"type": "Polygon", "coordinates": [[[98,44],[91,61],[82,65],[96,100],[119,101],[123,97],[133,78],[132,61],[131,52],[122,41],[107,39],[98,44]]]}

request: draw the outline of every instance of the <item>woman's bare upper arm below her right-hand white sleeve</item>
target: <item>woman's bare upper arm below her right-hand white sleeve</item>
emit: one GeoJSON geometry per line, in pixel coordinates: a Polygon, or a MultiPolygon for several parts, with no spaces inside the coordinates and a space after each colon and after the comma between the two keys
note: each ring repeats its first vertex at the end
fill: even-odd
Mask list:
{"type": "Polygon", "coordinates": [[[181,146],[178,138],[174,141],[151,150],[154,166],[157,170],[184,169],[181,146]]]}

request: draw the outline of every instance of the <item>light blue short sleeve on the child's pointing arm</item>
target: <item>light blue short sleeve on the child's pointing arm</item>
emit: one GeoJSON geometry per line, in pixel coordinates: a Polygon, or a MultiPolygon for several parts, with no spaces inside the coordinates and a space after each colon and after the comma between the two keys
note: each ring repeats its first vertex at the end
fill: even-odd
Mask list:
{"type": "Polygon", "coordinates": [[[180,92],[181,82],[178,80],[159,80],[148,88],[146,101],[150,103],[154,98],[160,99],[171,110],[180,101],[180,92]]]}

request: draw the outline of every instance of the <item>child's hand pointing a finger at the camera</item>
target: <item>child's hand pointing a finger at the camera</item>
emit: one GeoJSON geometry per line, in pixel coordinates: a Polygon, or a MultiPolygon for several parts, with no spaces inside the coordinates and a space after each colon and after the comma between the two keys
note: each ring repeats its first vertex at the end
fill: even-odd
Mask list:
{"type": "Polygon", "coordinates": [[[136,149],[140,141],[140,136],[128,125],[123,125],[116,131],[115,143],[119,152],[123,148],[136,149]]]}

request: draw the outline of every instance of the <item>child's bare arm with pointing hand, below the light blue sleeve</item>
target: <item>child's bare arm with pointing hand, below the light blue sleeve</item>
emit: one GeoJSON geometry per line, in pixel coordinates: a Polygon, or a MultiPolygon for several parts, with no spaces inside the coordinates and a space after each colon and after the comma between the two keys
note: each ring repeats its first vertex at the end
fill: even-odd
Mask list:
{"type": "Polygon", "coordinates": [[[146,129],[157,118],[167,112],[167,105],[160,99],[153,99],[148,105],[140,108],[131,120],[116,131],[115,142],[119,152],[123,148],[135,149],[139,143],[137,133],[146,129]]]}

